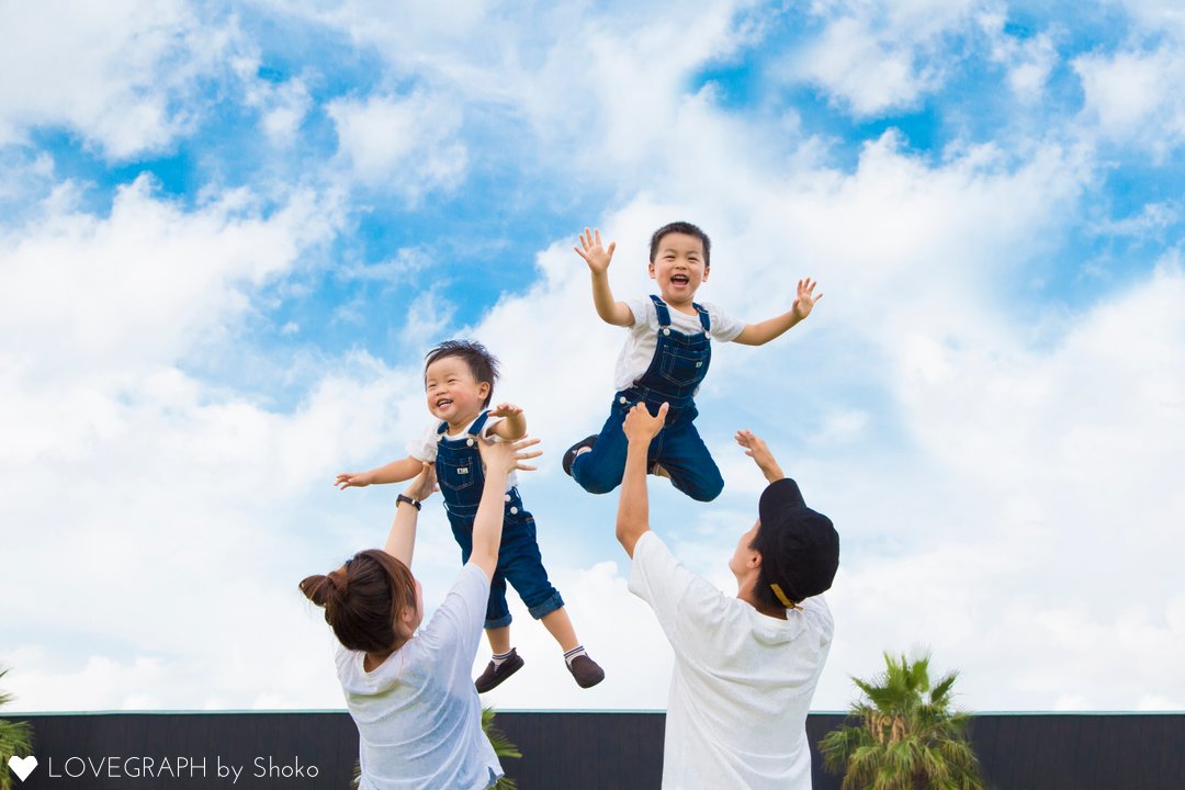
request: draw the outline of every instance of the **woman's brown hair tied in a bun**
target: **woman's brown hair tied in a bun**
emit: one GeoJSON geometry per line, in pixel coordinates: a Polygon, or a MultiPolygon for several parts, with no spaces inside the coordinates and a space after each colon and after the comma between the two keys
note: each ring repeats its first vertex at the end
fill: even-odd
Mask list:
{"type": "Polygon", "coordinates": [[[411,570],[378,548],[358,552],[327,576],[306,578],[300,591],[325,609],[325,622],[350,650],[399,649],[395,621],[403,609],[416,608],[411,570]]]}

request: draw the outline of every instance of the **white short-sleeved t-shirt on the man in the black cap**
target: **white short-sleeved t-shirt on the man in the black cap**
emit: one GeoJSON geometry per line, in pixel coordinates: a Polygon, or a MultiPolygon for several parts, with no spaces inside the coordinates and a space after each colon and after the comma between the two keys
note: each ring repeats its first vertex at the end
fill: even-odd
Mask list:
{"type": "Polygon", "coordinates": [[[629,590],[674,649],[662,786],[809,790],[806,719],[833,630],[822,597],[767,617],[688,571],[653,532],[634,546],[629,590]]]}

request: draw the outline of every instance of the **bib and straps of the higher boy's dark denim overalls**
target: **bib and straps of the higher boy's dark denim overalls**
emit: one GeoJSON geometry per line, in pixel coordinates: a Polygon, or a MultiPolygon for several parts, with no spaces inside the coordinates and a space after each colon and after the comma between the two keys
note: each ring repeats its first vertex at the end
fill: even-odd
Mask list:
{"type": "Polygon", "coordinates": [[[671,310],[667,304],[654,295],[651,300],[659,322],[654,357],[633,386],[617,393],[616,403],[629,409],[634,403],[645,400],[652,410],[667,403],[667,424],[671,424],[694,409],[696,390],[707,374],[712,359],[711,341],[707,338],[711,321],[707,310],[693,303],[704,332],[684,334],[671,328],[671,310]]]}

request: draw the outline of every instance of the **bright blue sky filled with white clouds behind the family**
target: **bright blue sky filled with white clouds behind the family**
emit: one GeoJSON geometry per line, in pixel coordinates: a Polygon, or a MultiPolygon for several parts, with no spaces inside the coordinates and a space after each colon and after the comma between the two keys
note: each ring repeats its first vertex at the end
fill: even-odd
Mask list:
{"type": "MultiPolygon", "coordinates": [[[[699,296],[811,319],[719,347],[725,493],[652,483],[725,590],[767,438],[844,540],[815,698],[929,646],[972,709],[1181,709],[1185,13],[1151,0],[0,5],[0,662],[27,711],[329,708],[296,582],[380,542],[339,471],[428,420],[475,336],[549,461],[523,481],[608,680],[515,610],[504,708],[659,708],[614,496],[562,471],[622,333],[584,226],[713,238],[699,296]],[[1100,679],[1106,679],[1101,681],[1100,679]]],[[[459,557],[425,508],[434,605],[459,557]]],[[[478,664],[486,661],[479,654],[478,664]]]]}

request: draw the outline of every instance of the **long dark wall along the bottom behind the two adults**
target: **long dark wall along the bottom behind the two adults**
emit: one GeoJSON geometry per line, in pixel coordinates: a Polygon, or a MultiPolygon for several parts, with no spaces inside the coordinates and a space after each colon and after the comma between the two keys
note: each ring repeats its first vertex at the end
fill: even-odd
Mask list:
{"type": "MultiPolygon", "coordinates": [[[[14,783],[20,790],[346,790],[358,753],[358,732],[345,713],[113,713],[27,720],[39,765],[24,784],[14,783]],[[152,776],[139,758],[154,759],[152,776]],[[316,776],[310,776],[314,770],[316,776]],[[82,776],[70,776],[79,771],[82,776]],[[141,776],[132,776],[135,772],[141,776]]],[[[837,714],[811,715],[812,745],[841,720],[837,714]]],[[[521,790],[660,785],[661,713],[507,712],[498,714],[497,724],[523,751],[521,759],[502,763],[521,790]]],[[[999,790],[1185,788],[1185,714],[979,715],[972,721],[972,740],[989,786],[999,790]]],[[[838,790],[839,777],[822,772],[818,753],[813,759],[815,790],[838,790]]]]}

